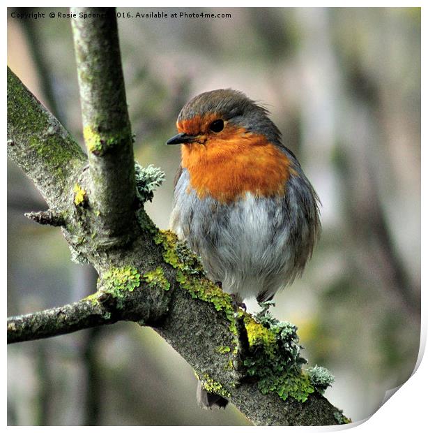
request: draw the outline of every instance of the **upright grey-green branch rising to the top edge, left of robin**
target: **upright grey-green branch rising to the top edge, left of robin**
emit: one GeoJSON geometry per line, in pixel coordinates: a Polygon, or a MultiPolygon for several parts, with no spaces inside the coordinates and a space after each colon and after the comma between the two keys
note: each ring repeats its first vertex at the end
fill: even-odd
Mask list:
{"type": "Polygon", "coordinates": [[[72,30],[89,155],[89,200],[100,212],[98,233],[112,244],[127,237],[135,210],[132,133],[116,14],[114,8],[72,8],[72,12],[77,15],[72,30]]]}

